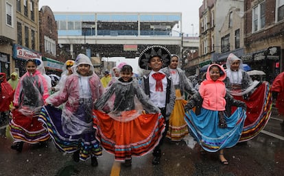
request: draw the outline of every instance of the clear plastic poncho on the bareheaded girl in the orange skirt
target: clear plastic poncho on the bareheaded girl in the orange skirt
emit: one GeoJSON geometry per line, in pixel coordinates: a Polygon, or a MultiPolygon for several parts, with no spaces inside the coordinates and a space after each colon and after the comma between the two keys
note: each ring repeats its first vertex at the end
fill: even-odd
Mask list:
{"type": "Polygon", "coordinates": [[[115,121],[128,122],[145,113],[155,114],[160,110],[150,101],[140,88],[137,79],[115,81],[104,96],[95,103],[95,108],[103,110],[115,121]]]}

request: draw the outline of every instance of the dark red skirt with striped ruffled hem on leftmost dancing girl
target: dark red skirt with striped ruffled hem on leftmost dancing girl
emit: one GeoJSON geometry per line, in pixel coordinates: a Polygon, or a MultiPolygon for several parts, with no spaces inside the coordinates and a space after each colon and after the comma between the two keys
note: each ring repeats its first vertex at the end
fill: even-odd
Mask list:
{"type": "Polygon", "coordinates": [[[10,131],[14,142],[27,142],[36,144],[49,139],[48,131],[43,123],[38,121],[38,116],[25,116],[19,110],[12,111],[10,131]]]}

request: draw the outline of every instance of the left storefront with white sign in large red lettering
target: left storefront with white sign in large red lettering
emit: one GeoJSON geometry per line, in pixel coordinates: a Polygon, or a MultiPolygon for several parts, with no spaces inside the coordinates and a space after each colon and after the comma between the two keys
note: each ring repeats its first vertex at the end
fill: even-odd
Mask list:
{"type": "Polygon", "coordinates": [[[41,54],[21,45],[13,45],[13,59],[15,61],[15,71],[21,77],[26,73],[25,62],[30,59],[41,59],[41,54]]]}

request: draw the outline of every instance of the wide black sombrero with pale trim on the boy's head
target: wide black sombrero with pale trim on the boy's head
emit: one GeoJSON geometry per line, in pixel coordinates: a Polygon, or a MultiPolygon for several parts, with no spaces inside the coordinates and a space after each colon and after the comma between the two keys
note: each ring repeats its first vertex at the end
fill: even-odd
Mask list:
{"type": "Polygon", "coordinates": [[[163,67],[166,67],[171,62],[171,53],[168,49],[160,45],[153,45],[144,49],[139,55],[139,66],[145,70],[151,70],[148,63],[151,58],[158,56],[163,60],[163,67]]]}

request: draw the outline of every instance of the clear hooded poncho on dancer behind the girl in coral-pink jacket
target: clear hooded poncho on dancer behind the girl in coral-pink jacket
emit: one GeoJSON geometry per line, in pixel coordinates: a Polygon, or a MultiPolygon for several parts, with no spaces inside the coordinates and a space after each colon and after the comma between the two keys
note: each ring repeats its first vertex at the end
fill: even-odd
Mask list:
{"type": "Polygon", "coordinates": [[[259,81],[252,81],[250,75],[244,71],[243,61],[237,58],[233,53],[228,55],[226,61],[226,75],[227,78],[224,82],[230,95],[242,96],[248,94],[259,84],[259,81]],[[239,69],[233,71],[231,69],[231,64],[236,60],[239,60],[239,69]]]}

